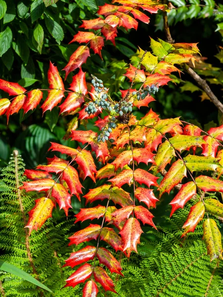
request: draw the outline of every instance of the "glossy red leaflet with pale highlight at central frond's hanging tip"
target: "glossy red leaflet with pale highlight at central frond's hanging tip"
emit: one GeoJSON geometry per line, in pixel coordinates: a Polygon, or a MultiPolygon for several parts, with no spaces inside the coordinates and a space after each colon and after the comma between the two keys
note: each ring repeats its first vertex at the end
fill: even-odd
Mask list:
{"type": "Polygon", "coordinates": [[[123,229],[119,232],[123,242],[123,251],[128,248],[128,257],[132,250],[137,252],[137,245],[140,243],[140,236],[143,233],[139,221],[136,218],[128,219],[123,229]]]}

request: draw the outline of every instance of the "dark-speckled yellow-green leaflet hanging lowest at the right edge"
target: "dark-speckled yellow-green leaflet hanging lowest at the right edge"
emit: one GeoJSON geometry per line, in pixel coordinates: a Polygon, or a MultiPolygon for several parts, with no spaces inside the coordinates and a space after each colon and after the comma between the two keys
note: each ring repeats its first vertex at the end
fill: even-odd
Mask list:
{"type": "Polygon", "coordinates": [[[206,244],[208,255],[211,257],[211,261],[216,258],[223,259],[222,235],[216,222],[213,219],[205,220],[203,224],[203,231],[203,240],[206,244]]]}

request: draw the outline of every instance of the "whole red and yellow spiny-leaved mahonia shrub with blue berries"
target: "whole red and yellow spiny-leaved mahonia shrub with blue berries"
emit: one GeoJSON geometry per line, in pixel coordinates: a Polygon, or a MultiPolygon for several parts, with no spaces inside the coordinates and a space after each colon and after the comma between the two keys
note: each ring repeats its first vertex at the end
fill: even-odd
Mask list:
{"type": "Polygon", "coordinates": [[[66,286],[84,283],[83,297],[97,296],[101,287],[116,293],[109,273],[122,276],[122,268],[112,252],[105,245],[101,247],[101,241],[127,257],[132,251],[137,252],[143,233],[141,224],[156,229],[150,208],[156,207],[159,198],[174,187],[178,193],[170,202],[170,216],[195,195],[199,197],[182,226],[182,237],[193,232],[206,216],[203,239],[208,254],[211,261],[223,259],[222,236],[213,219],[213,216],[223,217],[223,204],[205,197],[206,192],[223,192],[223,181],[219,179],[223,173],[223,126],[205,132],[179,117],[161,119],[151,108],[141,118],[134,115],[135,109],[148,106],[155,100],[153,95],[159,95],[159,88],[171,81],[172,72],[180,74],[176,64],[189,61],[194,64],[200,54],[197,44],[170,44],[161,39],[151,39],[153,53],[139,49],[125,74],[130,81],[129,88],[121,90],[121,98],[114,100],[102,79],[92,75],[91,83],[86,83],[81,66],[90,55],[88,46],[102,57],[104,37],[115,45],[117,26],[137,29],[136,19],[149,23],[149,17],[140,9],[156,13],[158,9],[165,11],[167,7],[147,0],[113,2],[120,5],[105,4],[99,8],[98,14],[103,18],[83,21],[81,27],[97,31],[96,34],[79,31],[71,41],[86,45],[76,49],[63,69],[66,79],[71,71],[80,68],[73,76],[69,90],[64,89],[63,80],[51,62],[48,90],[27,91],[17,83],[0,80],[0,89],[13,96],[12,100],[0,99],[0,115],[5,114],[7,121],[21,108],[24,113],[36,108],[43,98],[43,91],[48,91],[41,106],[43,112],[58,106],[67,93],[58,106],[60,114],[78,112],[79,120],[98,117],[95,125],[100,129],[99,133],[77,130],[77,123],[71,126],[70,138],[81,143],[82,147],[69,148],[51,143],[50,150],[69,156],[69,160],[54,156],[48,158],[48,165],[26,170],[25,175],[31,181],[20,187],[26,192],[43,192],[43,197],[36,200],[35,207],[29,212],[26,226],[29,234],[41,228],[52,216],[56,203],[68,215],[72,207],[71,197],[81,200],[81,180],[86,177],[95,184],[83,196],[86,205],[96,200],[106,201],[105,206],[98,204],[81,208],[75,215],[75,223],[102,218],[101,223],[90,224],[69,238],[69,245],[96,241],[95,246],[87,245],[71,253],[64,264],[72,268],[78,266],[66,280],[66,286]],[[210,176],[207,171],[213,171],[214,175],[210,176]],[[158,184],[161,176],[163,179],[158,184]],[[100,185],[97,180],[101,180],[100,185]],[[159,191],[158,197],[154,189],[159,191]]]}

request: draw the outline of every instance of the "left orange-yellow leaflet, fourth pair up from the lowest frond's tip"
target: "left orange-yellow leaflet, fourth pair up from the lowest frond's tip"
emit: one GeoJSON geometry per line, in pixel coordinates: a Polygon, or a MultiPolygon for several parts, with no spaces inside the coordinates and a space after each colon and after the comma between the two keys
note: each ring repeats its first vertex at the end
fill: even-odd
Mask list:
{"type": "Polygon", "coordinates": [[[75,217],[77,218],[75,223],[85,220],[93,220],[95,218],[101,218],[104,216],[106,212],[106,207],[97,205],[95,207],[89,207],[89,208],[80,208],[80,212],[75,214],[75,217]]]}

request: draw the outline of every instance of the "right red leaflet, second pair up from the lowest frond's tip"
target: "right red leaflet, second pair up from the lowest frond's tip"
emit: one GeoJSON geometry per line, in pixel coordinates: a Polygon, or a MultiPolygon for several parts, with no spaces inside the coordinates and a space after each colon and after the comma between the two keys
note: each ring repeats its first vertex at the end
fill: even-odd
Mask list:
{"type": "Polygon", "coordinates": [[[122,268],[120,263],[115,259],[115,257],[111,254],[111,252],[108,249],[104,247],[99,247],[97,257],[99,259],[100,264],[106,265],[106,267],[109,268],[111,273],[115,272],[123,276],[123,274],[121,273],[122,268]]]}

